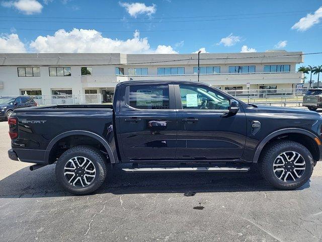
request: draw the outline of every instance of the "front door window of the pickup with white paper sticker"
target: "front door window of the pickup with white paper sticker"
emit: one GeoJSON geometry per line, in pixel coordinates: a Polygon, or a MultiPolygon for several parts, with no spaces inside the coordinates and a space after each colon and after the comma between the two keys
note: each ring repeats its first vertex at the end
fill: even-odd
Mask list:
{"type": "Polygon", "coordinates": [[[229,109],[229,100],[207,87],[180,85],[180,94],[183,109],[229,109]]]}

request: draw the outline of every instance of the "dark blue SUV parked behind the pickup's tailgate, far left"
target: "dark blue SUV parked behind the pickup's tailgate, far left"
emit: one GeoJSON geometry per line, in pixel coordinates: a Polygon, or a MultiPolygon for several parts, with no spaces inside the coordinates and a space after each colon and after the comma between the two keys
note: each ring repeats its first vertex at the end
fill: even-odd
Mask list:
{"type": "Polygon", "coordinates": [[[0,97],[0,119],[8,119],[16,108],[33,106],[37,103],[28,96],[0,97]]]}

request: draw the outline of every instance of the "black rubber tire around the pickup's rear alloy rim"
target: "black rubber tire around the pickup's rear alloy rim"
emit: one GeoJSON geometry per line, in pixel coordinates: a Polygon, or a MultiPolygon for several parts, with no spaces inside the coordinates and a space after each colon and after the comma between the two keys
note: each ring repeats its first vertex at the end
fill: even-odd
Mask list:
{"type": "MultiPolygon", "coordinates": [[[[55,170],[56,178],[58,180],[59,185],[63,187],[66,191],[72,194],[76,194],[76,195],[90,194],[96,191],[105,180],[105,177],[107,174],[106,163],[107,163],[106,157],[104,157],[98,149],[90,146],[75,146],[65,151],[59,157],[56,164],[56,170],[55,170]],[[86,157],[95,166],[95,177],[94,179],[91,180],[91,183],[89,185],[86,185],[85,187],[77,187],[76,185],[73,186],[70,183],[68,183],[67,178],[65,178],[65,175],[64,175],[65,165],[73,157],[86,157]]],[[[82,176],[82,174],[80,175],[82,176]]],[[[83,181],[82,181],[82,184],[83,184],[83,181]]]]}

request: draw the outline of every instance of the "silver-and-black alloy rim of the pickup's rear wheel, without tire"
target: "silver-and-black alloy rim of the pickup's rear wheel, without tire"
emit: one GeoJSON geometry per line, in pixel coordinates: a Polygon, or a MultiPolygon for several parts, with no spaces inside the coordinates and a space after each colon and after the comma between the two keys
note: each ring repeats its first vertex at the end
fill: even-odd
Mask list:
{"type": "Polygon", "coordinates": [[[64,166],[64,176],[74,187],[87,187],[95,179],[96,169],[93,162],[83,156],[69,159],[64,166]]]}

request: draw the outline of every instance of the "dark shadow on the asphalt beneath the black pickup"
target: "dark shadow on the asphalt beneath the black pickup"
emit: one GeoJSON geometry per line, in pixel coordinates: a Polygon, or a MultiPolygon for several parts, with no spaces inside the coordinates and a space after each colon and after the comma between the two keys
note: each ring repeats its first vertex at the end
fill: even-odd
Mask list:
{"type": "MultiPolygon", "coordinates": [[[[246,173],[182,172],[182,173],[125,173],[117,165],[108,171],[108,177],[95,194],[112,193],[197,193],[275,191],[256,171],[246,173]]],[[[309,182],[297,190],[309,187],[309,182]]],[[[283,192],[283,191],[280,191],[283,192]]],[[[0,198],[39,198],[74,196],[58,186],[55,164],[30,171],[23,168],[0,180],[0,198]]]]}

